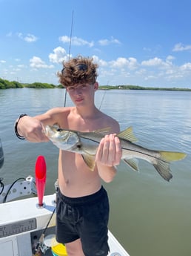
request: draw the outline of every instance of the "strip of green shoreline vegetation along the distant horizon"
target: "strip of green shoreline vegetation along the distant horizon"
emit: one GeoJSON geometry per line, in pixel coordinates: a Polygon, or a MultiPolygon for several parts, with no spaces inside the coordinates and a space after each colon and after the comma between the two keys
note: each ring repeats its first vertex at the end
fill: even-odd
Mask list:
{"type": "MultiPolygon", "coordinates": [[[[16,81],[8,81],[0,78],[0,89],[10,88],[62,88],[62,85],[53,85],[43,82],[33,82],[32,84],[21,84],[16,81]]],[[[191,91],[189,88],[153,88],[153,87],[142,87],[138,85],[101,85],[100,90],[152,90],[152,91],[191,91]]]]}

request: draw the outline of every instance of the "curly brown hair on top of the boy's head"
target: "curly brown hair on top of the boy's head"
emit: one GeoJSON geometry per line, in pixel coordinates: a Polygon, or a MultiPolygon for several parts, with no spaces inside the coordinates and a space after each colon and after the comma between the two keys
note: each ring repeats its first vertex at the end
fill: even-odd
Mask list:
{"type": "Polygon", "coordinates": [[[57,75],[65,88],[81,83],[94,84],[98,76],[97,68],[98,65],[93,63],[93,58],[78,56],[63,62],[63,69],[57,75]]]}

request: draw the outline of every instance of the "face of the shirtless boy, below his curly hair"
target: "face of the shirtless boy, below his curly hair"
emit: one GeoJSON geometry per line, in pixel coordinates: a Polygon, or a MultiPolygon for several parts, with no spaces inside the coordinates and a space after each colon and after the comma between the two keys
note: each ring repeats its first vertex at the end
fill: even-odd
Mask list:
{"type": "Polygon", "coordinates": [[[86,102],[94,103],[94,94],[97,90],[97,82],[94,84],[81,83],[67,87],[67,92],[75,105],[84,105],[86,102]]]}

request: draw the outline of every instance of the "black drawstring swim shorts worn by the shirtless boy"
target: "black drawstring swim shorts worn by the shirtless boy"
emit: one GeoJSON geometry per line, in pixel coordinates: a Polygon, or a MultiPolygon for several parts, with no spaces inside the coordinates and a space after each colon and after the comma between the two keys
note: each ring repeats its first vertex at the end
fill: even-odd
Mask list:
{"type": "Polygon", "coordinates": [[[65,197],[58,189],[56,240],[70,243],[81,239],[85,256],[107,256],[109,200],[103,187],[85,197],[65,197]]]}

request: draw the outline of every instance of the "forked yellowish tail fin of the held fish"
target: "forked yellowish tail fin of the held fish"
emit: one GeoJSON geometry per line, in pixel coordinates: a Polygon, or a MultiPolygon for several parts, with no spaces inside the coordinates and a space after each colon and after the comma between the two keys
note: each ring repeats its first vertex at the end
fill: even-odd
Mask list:
{"type": "Polygon", "coordinates": [[[172,179],[172,174],[170,173],[169,162],[182,160],[187,154],[171,151],[159,151],[159,154],[161,159],[158,159],[156,163],[153,163],[153,166],[164,180],[170,181],[170,179],[172,179]]]}

